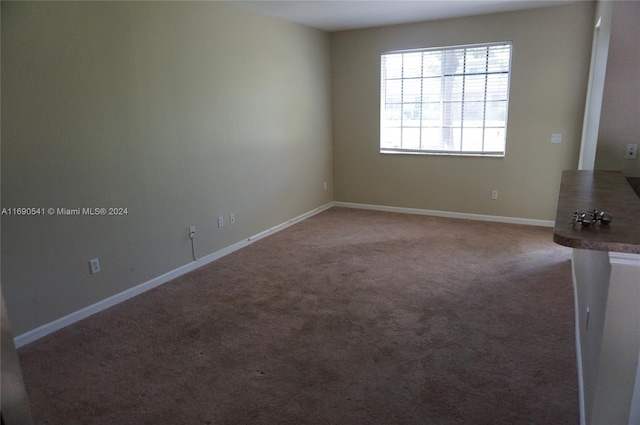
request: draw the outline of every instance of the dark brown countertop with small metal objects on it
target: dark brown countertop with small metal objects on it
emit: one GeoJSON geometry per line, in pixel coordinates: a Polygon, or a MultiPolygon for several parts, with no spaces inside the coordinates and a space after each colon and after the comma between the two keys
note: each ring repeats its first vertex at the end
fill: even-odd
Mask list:
{"type": "Polygon", "coordinates": [[[619,171],[564,171],[553,240],[571,248],[640,254],[640,197],[619,171]],[[594,208],[611,214],[611,224],[573,225],[574,211],[594,208]]]}

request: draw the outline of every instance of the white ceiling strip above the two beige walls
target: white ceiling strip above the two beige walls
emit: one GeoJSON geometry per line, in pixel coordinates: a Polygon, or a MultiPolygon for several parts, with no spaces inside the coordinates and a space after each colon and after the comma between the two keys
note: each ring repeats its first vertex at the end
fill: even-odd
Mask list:
{"type": "Polygon", "coordinates": [[[325,31],[420,22],[587,0],[229,0],[255,12],[325,31]]]}

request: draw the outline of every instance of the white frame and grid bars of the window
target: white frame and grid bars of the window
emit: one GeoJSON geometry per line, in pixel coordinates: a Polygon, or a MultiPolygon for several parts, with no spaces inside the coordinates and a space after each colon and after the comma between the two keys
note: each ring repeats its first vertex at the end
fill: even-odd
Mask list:
{"type": "MultiPolygon", "coordinates": [[[[402,56],[402,59],[404,61],[404,56],[402,56]]],[[[513,62],[513,41],[495,41],[495,42],[486,42],[486,43],[475,43],[475,44],[463,44],[463,45],[455,45],[455,46],[444,46],[444,47],[428,47],[428,48],[418,48],[418,49],[405,49],[405,50],[392,50],[392,51],[387,51],[387,52],[382,52],[380,54],[380,133],[379,133],[379,148],[380,148],[380,153],[381,154],[409,154],[409,155],[449,155],[449,156],[480,156],[480,157],[505,157],[506,156],[506,150],[507,150],[507,128],[508,128],[508,114],[509,114],[509,97],[510,97],[510,92],[511,92],[511,73],[512,73],[512,62],[513,62]],[[506,71],[504,70],[498,70],[498,71],[490,71],[490,55],[491,55],[491,47],[508,47],[508,60],[506,61],[506,63],[504,64],[506,66],[506,71]],[[467,71],[466,67],[467,67],[467,54],[469,52],[470,49],[479,49],[479,48],[485,48],[486,53],[485,53],[485,68],[482,72],[470,72],[467,71]],[[445,104],[447,102],[453,102],[452,98],[449,99],[444,99],[444,96],[442,93],[439,93],[439,101],[438,102],[433,102],[433,101],[429,101],[426,102],[425,101],[425,91],[423,88],[424,85],[424,80],[426,78],[434,78],[435,77],[429,76],[429,77],[425,77],[425,70],[424,70],[424,53],[425,52],[436,52],[436,53],[440,53],[442,55],[445,54],[446,51],[452,51],[452,50],[458,50],[458,51],[462,51],[463,52],[463,62],[462,62],[462,71],[458,71],[459,69],[459,65],[455,68],[455,70],[451,73],[451,74],[447,74],[443,69],[440,70],[440,77],[437,78],[437,80],[439,81],[440,84],[443,84],[443,81],[445,79],[445,77],[461,77],[462,78],[462,88],[460,89],[461,92],[461,99],[458,103],[460,104],[461,107],[461,113],[460,113],[460,121],[459,121],[459,125],[458,126],[445,126],[443,124],[443,119],[442,116],[440,117],[440,125],[439,127],[423,127],[423,122],[424,120],[424,116],[423,116],[423,108],[424,105],[427,104],[437,104],[438,102],[441,104],[445,104]],[[386,65],[386,61],[388,60],[389,57],[391,56],[395,56],[395,55],[405,55],[405,54],[412,54],[412,53],[421,53],[421,67],[419,70],[419,76],[418,77],[406,77],[404,76],[404,62],[403,65],[401,66],[401,77],[397,78],[387,78],[387,75],[385,73],[386,69],[385,69],[385,65],[386,65]],[[489,100],[487,97],[487,87],[488,87],[488,79],[489,76],[491,75],[506,75],[506,88],[504,91],[504,99],[499,99],[499,100],[489,100]],[[478,101],[474,101],[475,103],[479,103],[482,105],[483,108],[483,115],[482,115],[482,126],[481,127],[473,127],[473,126],[465,126],[465,117],[464,117],[464,108],[465,106],[467,106],[468,104],[471,103],[471,101],[467,101],[465,100],[465,94],[466,93],[470,93],[470,90],[466,88],[465,85],[465,81],[466,78],[469,76],[484,76],[485,79],[485,83],[484,83],[484,97],[482,99],[481,102],[478,101]],[[420,88],[420,94],[419,94],[419,101],[412,101],[412,102],[407,102],[404,100],[404,95],[405,95],[405,81],[407,80],[411,80],[411,79],[420,79],[421,80],[421,88],[420,88]],[[389,97],[387,96],[387,85],[389,81],[392,80],[399,80],[401,82],[401,89],[400,89],[400,96],[401,96],[401,100],[400,102],[389,102],[389,97]],[[468,103],[465,103],[468,102],[468,103]],[[504,103],[504,110],[500,109],[499,113],[500,114],[504,114],[504,126],[487,126],[487,104],[491,103],[491,102],[503,102],[504,103]],[[419,127],[415,127],[415,126],[408,126],[408,125],[404,125],[404,106],[405,105],[409,105],[409,104],[420,104],[420,126],[419,127]],[[398,127],[391,127],[391,126],[385,126],[385,123],[387,123],[387,120],[385,119],[385,115],[387,113],[387,105],[395,105],[398,106],[400,105],[400,126],[398,127]],[[423,142],[422,142],[422,138],[423,138],[423,129],[424,128],[439,128],[438,131],[440,131],[440,133],[442,134],[443,128],[450,128],[451,131],[453,131],[453,129],[457,129],[459,130],[460,134],[459,134],[459,149],[427,149],[427,148],[423,148],[423,142]],[[406,129],[408,128],[418,128],[419,130],[419,149],[410,149],[410,148],[403,148],[402,147],[402,138],[403,138],[403,133],[406,129]],[[486,129],[487,128],[496,128],[496,129],[502,129],[504,134],[501,136],[501,147],[502,149],[487,149],[485,147],[485,139],[486,139],[486,129]],[[399,142],[400,142],[400,147],[383,147],[383,142],[385,140],[383,140],[383,137],[385,137],[385,130],[388,129],[397,129],[399,130],[399,142]],[[482,130],[482,136],[481,136],[481,145],[482,148],[480,150],[463,150],[463,130],[464,129],[481,129],[482,130]]],[[[388,69],[388,67],[387,67],[388,69]]],[[[444,112],[443,112],[444,114],[444,112]]],[[[468,119],[467,122],[470,122],[471,119],[468,119]]],[[[498,130],[499,132],[499,130],[498,130]]],[[[454,142],[453,140],[453,136],[450,136],[450,142],[454,142]]],[[[442,135],[440,136],[440,143],[444,144],[443,141],[443,137],[442,135]]]]}

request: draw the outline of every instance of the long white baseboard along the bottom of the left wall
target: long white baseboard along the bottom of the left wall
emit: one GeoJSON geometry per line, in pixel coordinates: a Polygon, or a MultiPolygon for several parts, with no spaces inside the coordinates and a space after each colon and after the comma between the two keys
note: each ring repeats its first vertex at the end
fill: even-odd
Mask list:
{"type": "Polygon", "coordinates": [[[205,266],[209,263],[211,263],[212,261],[215,261],[219,258],[224,257],[225,255],[231,254],[234,251],[237,251],[241,248],[244,248],[248,245],[251,245],[252,243],[254,243],[257,240],[260,240],[268,235],[271,235],[273,233],[276,233],[280,230],[286,229],[287,227],[295,224],[298,221],[304,220],[306,218],[309,218],[313,215],[319,214],[329,208],[331,208],[334,205],[334,202],[329,202],[328,204],[325,204],[321,207],[318,207],[314,210],[311,210],[309,212],[306,212],[304,214],[301,214],[295,218],[292,218],[282,224],[278,224],[277,226],[271,227],[263,232],[260,232],[256,235],[250,236],[247,239],[243,239],[239,242],[236,242],[232,245],[229,245],[225,248],[222,248],[218,251],[215,251],[209,255],[206,255],[202,258],[200,258],[197,261],[192,261],[188,264],[185,264],[183,266],[178,267],[177,269],[171,270],[163,275],[160,275],[158,277],[155,277],[151,280],[148,280],[144,283],[141,283],[139,285],[136,285],[132,288],[129,288],[125,291],[122,291],[118,294],[112,295],[108,298],[105,298],[101,301],[98,301],[95,304],[92,304],[90,306],[87,306],[85,308],[82,308],[80,310],[77,310],[71,314],[68,314],[64,317],[61,317],[59,319],[56,319],[52,322],[49,323],[45,323],[42,326],[39,326],[35,329],[32,329],[28,332],[25,332],[21,335],[18,335],[14,338],[14,342],[16,345],[16,348],[22,347],[24,345],[27,345],[33,341],[36,341],[42,337],[45,337],[55,331],[58,331],[64,327],[67,327],[73,323],[76,323],[82,319],[86,319],[87,317],[99,313],[102,310],[106,310],[109,307],[113,307],[116,304],[120,304],[123,301],[126,301],[130,298],[135,297],[136,295],[140,295],[143,292],[146,292],[150,289],[153,289],[157,286],[162,285],[163,283],[169,282],[170,280],[173,280],[177,277],[180,277],[186,273],[189,273],[195,269],[198,269],[202,266],[205,266]]]}

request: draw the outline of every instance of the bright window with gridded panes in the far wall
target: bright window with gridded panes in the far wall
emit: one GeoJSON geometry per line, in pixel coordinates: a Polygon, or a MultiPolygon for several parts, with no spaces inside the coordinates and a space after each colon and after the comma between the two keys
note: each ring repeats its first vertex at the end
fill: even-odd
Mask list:
{"type": "Polygon", "coordinates": [[[381,59],[380,152],[504,156],[510,42],[381,59]]]}

